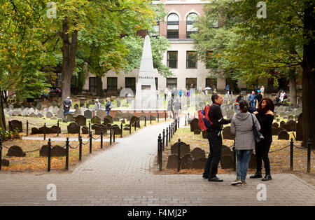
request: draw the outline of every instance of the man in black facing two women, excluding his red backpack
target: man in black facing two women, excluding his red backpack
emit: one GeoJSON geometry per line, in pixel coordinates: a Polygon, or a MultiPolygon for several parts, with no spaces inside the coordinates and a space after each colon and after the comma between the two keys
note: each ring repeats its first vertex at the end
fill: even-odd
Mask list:
{"type": "Polygon", "coordinates": [[[213,123],[211,128],[207,130],[207,137],[209,139],[210,153],[204,167],[204,174],[202,177],[209,181],[223,181],[218,179],[218,163],[222,156],[222,125],[231,123],[230,119],[224,119],[221,111],[221,104],[223,104],[223,97],[217,93],[211,96],[213,105],[209,109],[209,119],[213,123]]]}

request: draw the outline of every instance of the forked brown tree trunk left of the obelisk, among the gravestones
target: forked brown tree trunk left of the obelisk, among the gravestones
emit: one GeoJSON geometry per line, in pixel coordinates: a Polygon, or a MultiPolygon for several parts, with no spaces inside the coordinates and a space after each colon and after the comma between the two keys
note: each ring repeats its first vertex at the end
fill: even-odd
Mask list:
{"type": "Polygon", "coordinates": [[[62,101],[71,95],[71,77],[76,61],[76,49],[78,44],[78,31],[74,31],[69,41],[68,20],[62,25],[62,101]]]}

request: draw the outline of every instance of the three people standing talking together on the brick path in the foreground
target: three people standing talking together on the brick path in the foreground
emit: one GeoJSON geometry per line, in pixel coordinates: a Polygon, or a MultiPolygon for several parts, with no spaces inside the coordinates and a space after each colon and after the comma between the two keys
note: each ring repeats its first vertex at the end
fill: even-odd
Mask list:
{"type": "Polygon", "coordinates": [[[210,153],[204,167],[202,177],[209,181],[223,181],[216,177],[218,173],[218,163],[222,156],[222,136],[223,125],[231,123],[231,132],[235,134],[235,150],[237,156],[237,178],[232,185],[240,184],[246,186],[246,174],[248,163],[251,159],[253,149],[255,149],[257,170],[251,178],[262,178],[262,160],[265,165],[265,177],[262,181],[271,180],[270,162],[268,153],[272,144],[272,122],[274,120],[274,103],[269,98],[262,98],[258,102],[258,108],[250,108],[244,99],[239,100],[239,112],[232,119],[223,118],[221,104],[223,97],[219,94],[211,96],[213,104],[209,109],[209,119],[213,123],[207,130],[210,153]],[[260,131],[264,137],[260,142],[255,141],[253,128],[260,131]]]}

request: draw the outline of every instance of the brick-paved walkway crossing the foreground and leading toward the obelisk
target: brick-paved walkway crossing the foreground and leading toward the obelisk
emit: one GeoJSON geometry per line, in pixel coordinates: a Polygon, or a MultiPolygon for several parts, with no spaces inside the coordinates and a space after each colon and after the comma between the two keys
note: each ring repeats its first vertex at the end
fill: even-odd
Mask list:
{"type": "MultiPolygon", "coordinates": [[[[182,120],[184,121],[184,120],[182,120]]],[[[272,181],[248,179],[248,186],[210,183],[195,174],[153,174],[158,134],[169,123],[139,130],[69,172],[0,172],[0,205],[315,205],[315,187],[293,174],[274,174],[272,181]],[[258,201],[258,184],[267,200],[258,201]],[[48,184],[57,200],[48,201],[48,184]]]]}

